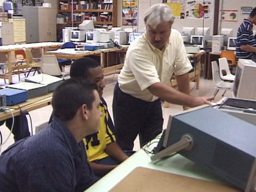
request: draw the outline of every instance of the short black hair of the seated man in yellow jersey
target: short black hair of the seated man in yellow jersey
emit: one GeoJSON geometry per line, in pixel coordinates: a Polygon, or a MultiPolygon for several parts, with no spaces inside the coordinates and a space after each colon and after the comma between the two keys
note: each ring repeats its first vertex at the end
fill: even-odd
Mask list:
{"type": "Polygon", "coordinates": [[[70,67],[71,78],[83,78],[87,79],[89,76],[89,69],[100,66],[96,60],[91,58],[80,58],[75,60],[70,67]]]}

